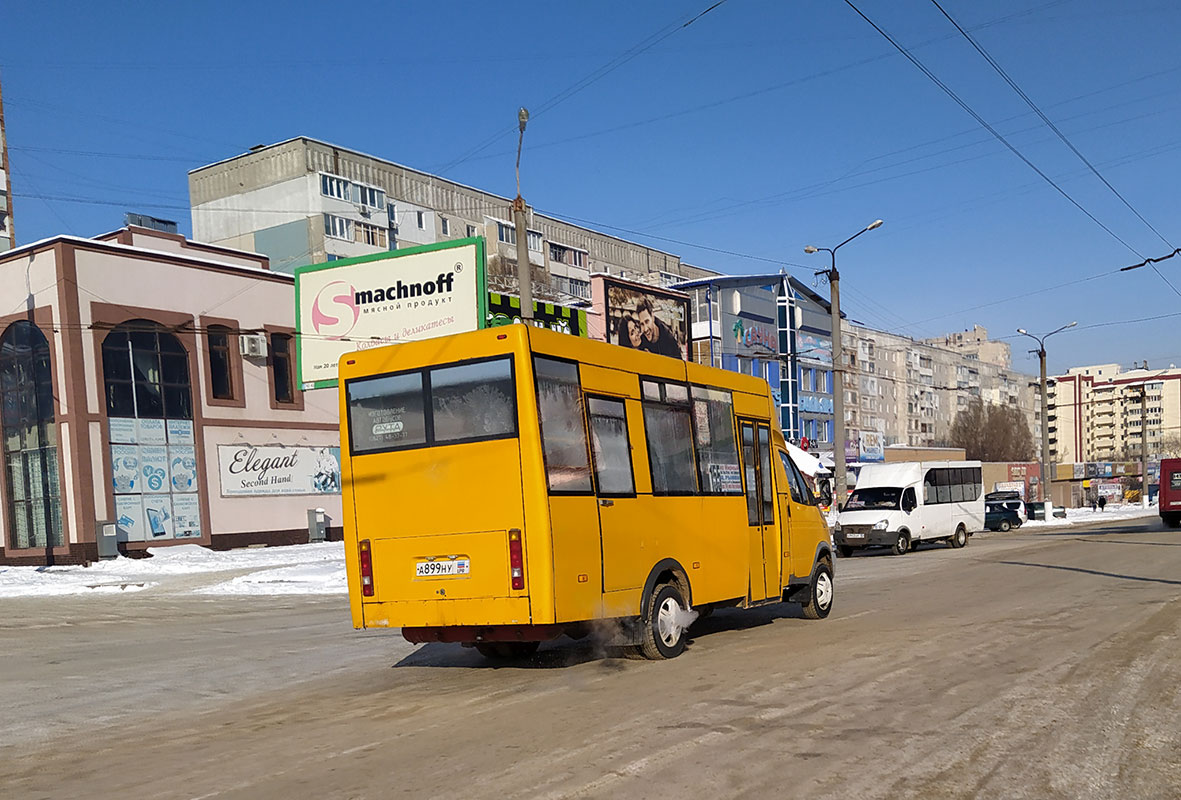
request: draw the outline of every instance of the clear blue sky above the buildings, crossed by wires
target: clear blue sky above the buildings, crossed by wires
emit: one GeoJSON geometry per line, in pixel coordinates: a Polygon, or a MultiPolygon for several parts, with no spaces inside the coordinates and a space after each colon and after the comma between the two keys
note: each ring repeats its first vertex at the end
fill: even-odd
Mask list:
{"type": "MultiPolygon", "coordinates": [[[[188,232],[189,169],[299,135],[511,196],[526,105],[539,210],[804,280],[827,266],[805,245],[881,217],[840,251],[855,319],[908,336],[1077,319],[1051,370],[1181,363],[1181,316],[1105,325],[1181,312],[1151,269],[1107,274],[1181,246],[1181,6],[941,0],[1162,241],[929,0],[855,5],[1098,222],[846,4],[726,0],[678,27],[711,2],[9,4],[18,241],[128,210],[188,232]]],[[[1181,288],[1181,256],[1159,269],[1181,288]]],[[[1033,372],[1023,342],[1014,366],[1033,372]]]]}

